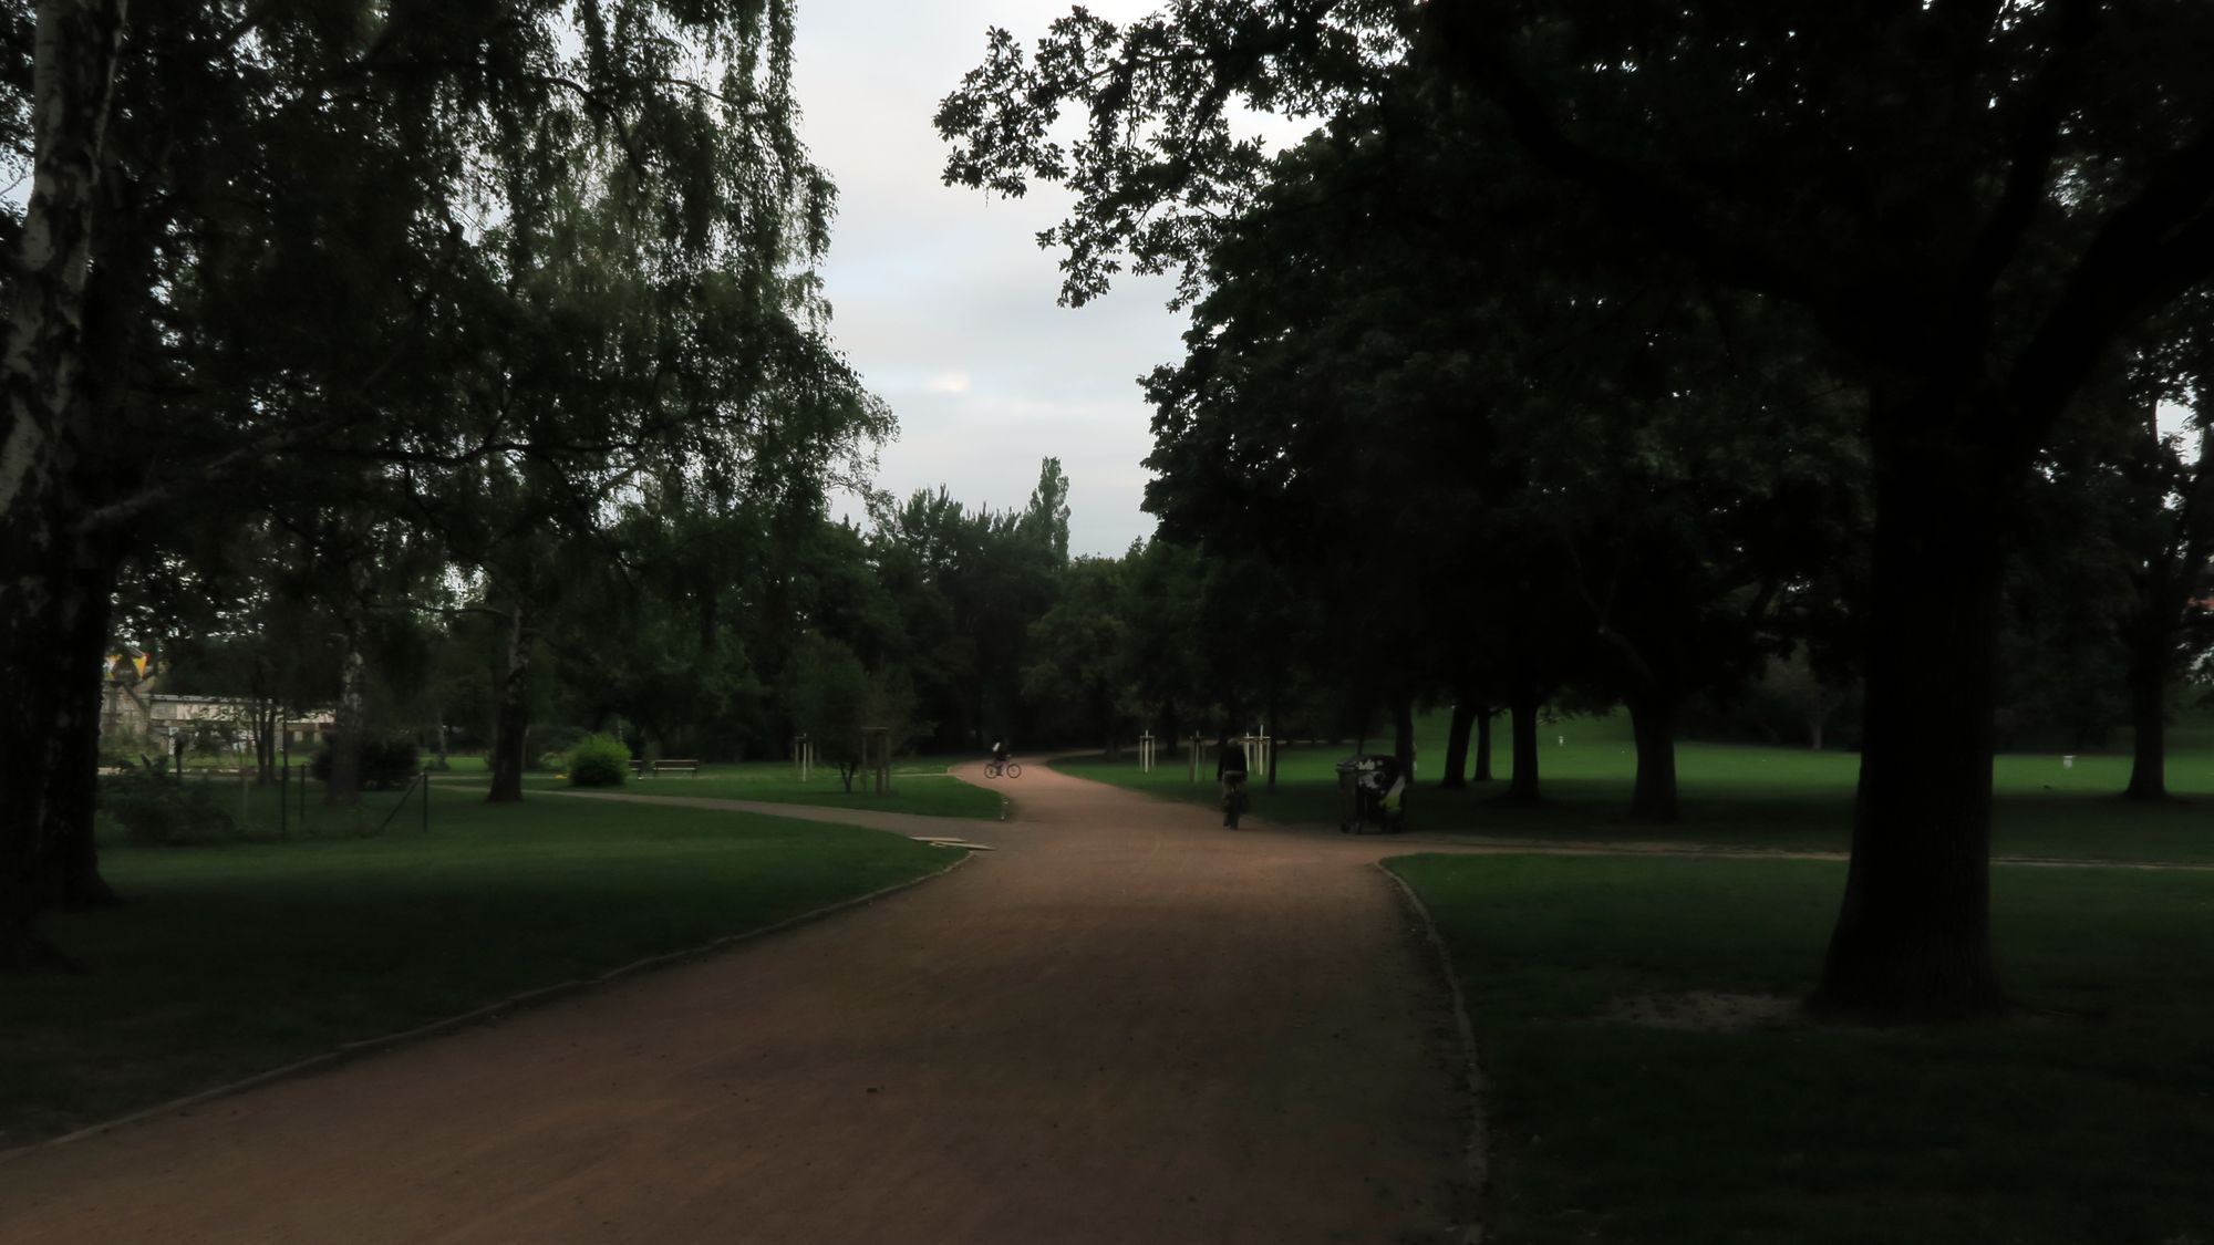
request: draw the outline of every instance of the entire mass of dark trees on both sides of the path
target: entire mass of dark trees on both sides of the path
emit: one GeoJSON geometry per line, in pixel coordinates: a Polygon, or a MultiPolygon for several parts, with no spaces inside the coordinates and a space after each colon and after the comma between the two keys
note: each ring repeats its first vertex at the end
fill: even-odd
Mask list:
{"type": "Polygon", "coordinates": [[[1627,704],[1654,817],[1687,707],[1791,654],[1864,685],[1822,984],[1862,1012],[2001,1001],[2001,669],[2066,716],[2112,636],[2159,793],[2207,596],[2207,459],[2152,416],[2210,359],[2203,4],[994,31],[948,177],[1067,179],[1067,297],[1131,264],[1193,310],[1147,381],[1162,538],[1076,560],[1054,463],[1016,512],[826,518],[892,423],[824,335],[788,0],[0,22],[31,184],[0,230],[0,966],[46,957],[42,906],[108,899],[89,671],[120,631],[255,636],[275,696],[328,687],[339,793],[416,696],[392,713],[489,720],[494,798],[549,704],[728,749],[1384,707],[1410,749],[1424,700],[1448,780],[1506,711],[1534,795],[1565,696],[1627,704]],[[1271,160],[1238,100],[1317,131],[1271,160]]]}

